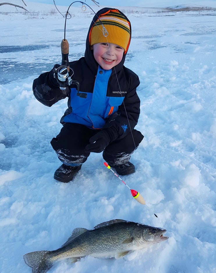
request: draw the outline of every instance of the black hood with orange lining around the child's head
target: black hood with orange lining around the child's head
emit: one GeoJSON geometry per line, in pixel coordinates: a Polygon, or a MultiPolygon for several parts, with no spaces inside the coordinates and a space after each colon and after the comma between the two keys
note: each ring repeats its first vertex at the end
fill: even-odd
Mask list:
{"type": "MultiPolygon", "coordinates": [[[[91,22],[89,30],[88,30],[88,35],[87,35],[87,38],[86,38],[86,44],[85,44],[85,61],[86,61],[87,65],[89,66],[90,70],[92,70],[92,72],[94,73],[94,75],[97,74],[98,63],[94,59],[93,50],[90,49],[90,45],[89,45],[89,33],[90,33],[90,30],[91,30],[92,26],[94,25],[94,23],[98,19],[99,15],[101,15],[103,13],[106,13],[108,10],[116,10],[116,8],[102,8],[101,10],[99,10],[96,13],[96,15],[94,15],[94,17],[92,19],[92,22],[91,22]]],[[[119,13],[121,13],[122,15],[124,15],[124,13],[122,13],[120,10],[118,10],[118,11],[119,11],[119,13]]],[[[128,22],[130,22],[125,15],[124,15],[124,17],[127,19],[128,22]]],[[[130,31],[131,31],[131,23],[130,23],[130,31]]],[[[123,55],[122,61],[115,66],[115,70],[114,70],[114,68],[112,68],[112,74],[114,74],[115,72],[118,72],[119,70],[122,69],[122,67],[124,65],[126,54],[127,53],[125,53],[123,55]]]]}

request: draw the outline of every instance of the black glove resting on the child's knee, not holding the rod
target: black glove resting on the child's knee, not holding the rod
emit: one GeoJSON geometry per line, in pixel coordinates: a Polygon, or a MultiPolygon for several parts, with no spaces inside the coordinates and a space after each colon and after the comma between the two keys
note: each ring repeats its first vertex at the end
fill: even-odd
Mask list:
{"type": "Polygon", "coordinates": [[[102,129],[97,134],[89,139],[90,144],[85,147],[85,151],[88,153],[100,153],[110,142],[117,139],[118,133],[114,127],[102,129]]]}

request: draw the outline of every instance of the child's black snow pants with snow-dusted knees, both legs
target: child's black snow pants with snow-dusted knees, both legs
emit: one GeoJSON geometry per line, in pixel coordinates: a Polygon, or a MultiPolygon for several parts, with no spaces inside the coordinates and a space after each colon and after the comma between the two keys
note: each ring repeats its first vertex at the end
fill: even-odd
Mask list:
{"type": "MultiPolygon", "coordinates": [[[[51,145],[61,162],[70,166],[83,164],[90,153],[85,152],[89,139],[97,134],[85,125],[65,123],[60,133],[51,140],[51,145]]],[[[124,138],[111,142],[103,151],[103,159],[111,166],[128,162],[131,154],[139,146],[143,135],[133,129],[133,137],[128,133],[124,138]]]]}

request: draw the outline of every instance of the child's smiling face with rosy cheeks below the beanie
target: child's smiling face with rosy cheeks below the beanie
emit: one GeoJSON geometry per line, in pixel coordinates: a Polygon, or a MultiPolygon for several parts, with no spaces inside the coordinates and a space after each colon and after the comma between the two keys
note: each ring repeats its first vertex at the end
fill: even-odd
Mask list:
{"type": "Polygon", "coordinates": [[[109,70],[122,61],[123,47],[112,43],[97,43],[91,46],[94,59],[105,70],[109,70]]]}

